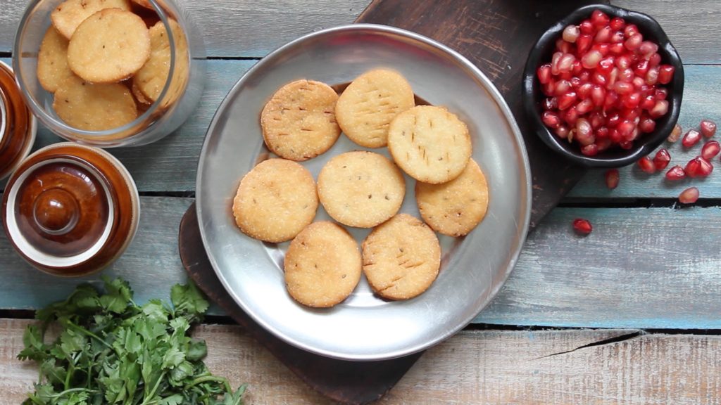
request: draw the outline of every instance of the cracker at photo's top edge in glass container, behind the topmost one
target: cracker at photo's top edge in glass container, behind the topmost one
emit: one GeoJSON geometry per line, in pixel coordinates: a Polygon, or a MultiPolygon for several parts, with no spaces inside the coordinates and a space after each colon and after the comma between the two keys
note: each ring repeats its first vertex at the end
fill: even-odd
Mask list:
{"type": "Polygon", "coordinates": [[[131,9],[131,2],[129,0],[66,0],[50,13],[50,21],[63,37],[70,40],[81,22],[102,9],[128,11],[131,9]]]}

